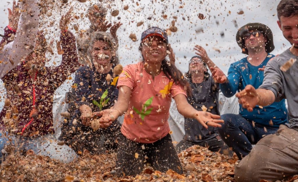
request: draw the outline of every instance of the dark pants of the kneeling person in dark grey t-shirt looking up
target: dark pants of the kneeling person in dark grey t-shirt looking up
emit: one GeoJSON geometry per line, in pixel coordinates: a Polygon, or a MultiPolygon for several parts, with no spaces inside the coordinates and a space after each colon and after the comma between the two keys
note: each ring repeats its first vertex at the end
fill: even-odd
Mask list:
{"type": "Polygon", "coordinates": [[[220,152],[221,154],[233,155],[233,152],[229,151],[229,147],[224,143],[224,141],[219,138],[219,136],[218,138],[214,137],[201,142],[192,142],[183,139],[179,142],[179,144],[176,145],[175,149],[178,153],[180,153],[182,150],[185,150],[193,145],[207,147],[212,152],[220,152]]]}

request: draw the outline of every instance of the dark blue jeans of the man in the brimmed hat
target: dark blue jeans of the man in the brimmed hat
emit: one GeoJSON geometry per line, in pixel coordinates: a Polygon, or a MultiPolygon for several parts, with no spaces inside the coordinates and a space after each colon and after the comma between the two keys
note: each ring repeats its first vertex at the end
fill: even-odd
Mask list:
{"type": "Polygon", "coordinates": [[[252,144],[256,144],[266,135],[277,132],[278,127],[268,127],[264,129],[264,125],[252,125],[252,121],[248,121],[241,115],[224,114],[221,115],[224,120],[218,133],[222,140],[237,154],[241,160],[252,150],[252,144]]]}

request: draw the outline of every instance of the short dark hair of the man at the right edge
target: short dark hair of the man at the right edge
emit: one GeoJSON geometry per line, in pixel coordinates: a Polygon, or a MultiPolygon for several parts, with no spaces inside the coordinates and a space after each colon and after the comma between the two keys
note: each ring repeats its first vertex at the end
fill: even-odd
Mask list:
{"type": "Polygon", "coordinates": [[[297,0],[281,0],[277,5],[277,17],[280,20],[281,16],[291,17],[298,15],[297,0]]]}

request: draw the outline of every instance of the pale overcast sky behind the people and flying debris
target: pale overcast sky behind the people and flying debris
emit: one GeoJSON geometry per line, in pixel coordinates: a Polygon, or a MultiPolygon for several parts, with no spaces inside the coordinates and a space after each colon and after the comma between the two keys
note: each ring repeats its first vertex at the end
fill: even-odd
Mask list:
{"type": "MultiPolygon", "coordinates": [[[[13,1],[0,1],[0,34],[3,34],[3,28],[8,24],[7,8],[11,7],[13,1]]],[[[74,7],[74,14],[77,16],[83,13],[83,18],[71,23],[69,26],[71,31],[75,33],[75,30],[73,30],[74,24],[79,24],[80,30],[87,29],[89,20],[86,18],[86,11],[90,4],[99,1],[87,0],[85,3],[80,3],[76,0],[69,0],[69,2],[61,6],[61,3],[56,0],[52,10],[53,15],[42,20],[41,27],[45,28],[45,36],[48,41],[51,39],[58,40],[60,16],[66,13],[70,7],[74,7]],[[49,27],[51,21],[54,22],[54,25],[49,27]]],[[[112,23],[121,21],[123,23],[117,32],[119,39],[118,56],[122,65],[135,63],[140,59],[138,46],[142,31],[150,26],[167,29],[170,27],[171,21],[174,20],[173,16],[177,16],[175,23],[178,31],[169,36],[169,42],[176,55],[177,67],[183,73],[188,70],[188,61],[190,57],[195,55],[193,47],[195,44],[199,44],[207,50],[209,57],[215,64],[227,73],[231,63],[245,56],[241,53],[241,49],[235,40],[238,28],[244,24],[260,22],[270,27],[274,35],[275,50],[272,52],[273,54],[282,53],[290,47],[276,23],[278,3],[279,0],[123,0],[123,2],[115,0],[107,1],[105,4],[109,4],[111,7],[111,9],[108,9],[108,21],[112,23]],[[124,5],[129,6],[128,10],[123,10],[124,5]],[[120,13],[117,17],[121,19],[118,20],[117,17],[111,16],[111,10],[119,10],[120,13]],[[243,10],[244,13],[237,14],[240,10],[243,10]],[[204,14],[206,18],[199,19],[199,13],[204,14]],[[167,18],[164,18],[164,15],[167,15],[167,18]],[[152,17],[152,19],[148,20],[148,17],[152,17]],[[144,24],[137,27],[136,24],[139,21],[143,21],[144,24]],[[198,30],[203,30],[203,32],[198,30]],[[136,34],[138,38],[136,42],[130,40],[130,33],[136,34]],[[221,36],[221,33],[224,35],[221,36]],[[220,52],[216,50],[220,50],[220,52]]],[[[51,11],[51,7],[48,10],[51,11]]],[[[56,52],[56,49],[54,49],[54,52],[56,52]]],[[[59,64],[61,56],[48,56],[48,59],[59,64]]],[[[51,64],[51,61],[48,64],[51,64]]],[[[63,94],[65,90],[68,90],[68,88],[60,89],[59,92],[63,94]]]]}

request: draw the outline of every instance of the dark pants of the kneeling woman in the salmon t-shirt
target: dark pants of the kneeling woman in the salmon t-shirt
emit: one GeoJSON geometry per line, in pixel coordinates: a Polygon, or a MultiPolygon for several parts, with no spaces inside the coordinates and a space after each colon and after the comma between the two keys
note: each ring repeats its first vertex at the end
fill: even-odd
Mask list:
{"type": "Polygon", "coordinates": [[[120,134],[116,161],[117,176],[140,174],[146,163],[161,172],[172,169],[183,174],[170,134],[151,144],[131,141],[120,134]]]}

